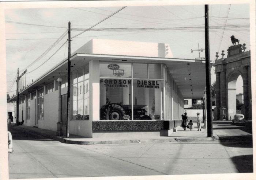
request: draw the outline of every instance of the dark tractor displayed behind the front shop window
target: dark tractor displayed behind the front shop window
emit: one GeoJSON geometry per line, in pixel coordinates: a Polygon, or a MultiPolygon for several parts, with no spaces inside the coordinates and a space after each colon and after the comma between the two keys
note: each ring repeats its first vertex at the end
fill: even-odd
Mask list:
{"type": "MultiPolygon", "coordinates": [[[[108,103],[101,106],[100,119],[101,120],[128,120],[131,119],[132,109],[131,105],[122,105],[120,103],[108,103]]],[[[133,119],[134,120],[151,120],[150,116],[145,115],[147,105],[133,105],[133,119]]]]}

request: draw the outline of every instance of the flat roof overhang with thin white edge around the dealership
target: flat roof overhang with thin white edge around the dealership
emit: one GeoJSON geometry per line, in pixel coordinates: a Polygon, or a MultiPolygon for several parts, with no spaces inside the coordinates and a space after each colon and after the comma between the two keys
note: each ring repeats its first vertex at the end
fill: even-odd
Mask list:
{"type": "MultiPolygon", "coordinates": [[[[156,58],[144,56],[123,56],[123,55],[105,55],[105,54],[74,54],[70,58],[71,72],[89,63],[91,60],[101,60],[106,62],[127,62],[127,63],[161,63],[166,64],[174,81],[185,99],[199,99],[203,97],[206,87],[205,61],[196,59],[178,59],[178,58],[156,58]]],[[[68,60],[64,59],[24,90],[20,91],[20,96],[34,92],[44,85],[52,82],[58,77],[67,74],[68,60]]],[[[17,95],[10,99],[16,101],[17,95]]]]}

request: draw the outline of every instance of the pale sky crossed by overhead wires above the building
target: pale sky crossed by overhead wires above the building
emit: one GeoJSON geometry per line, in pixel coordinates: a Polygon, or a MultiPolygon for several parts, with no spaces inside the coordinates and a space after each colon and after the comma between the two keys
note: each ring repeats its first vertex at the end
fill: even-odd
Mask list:
{"type": "MultiPolygon", "coordinates": [[[[64,33],[68,21],[73,37],[122,7],[5,9],[7,92],[11,96],[16,93],[14,81],[18,68],[20,73],[27,69],[28,84],[67,57],[68,36],[64,33]],[[63,34],[63,39],[58,40],[63,34]]],[[[246,44],[246,51],[250,50],[248,4],[209,5],[209,16],[210,60],[216,59],[216,52],[221,58],[222,50],[226,58],[232,45],[231,35],[240,44],[246,44]]],[[[168,43],[174,58],[195,59],[199,57],[198,51],[191,53],[191,49],[196,50],[198,46],[204,49],[204,5],[127,6],[93,29],[72,39],[71,53],[92,38],[98,38],[168,43]]],[[[204,51],[200,51],[200,56],[205,56],[204,51]]],[[[214,81],[213,67],[211,82],[214,81]]],[[[237,80],[239,93],[243,93],[241,77],[237,80]]]]}

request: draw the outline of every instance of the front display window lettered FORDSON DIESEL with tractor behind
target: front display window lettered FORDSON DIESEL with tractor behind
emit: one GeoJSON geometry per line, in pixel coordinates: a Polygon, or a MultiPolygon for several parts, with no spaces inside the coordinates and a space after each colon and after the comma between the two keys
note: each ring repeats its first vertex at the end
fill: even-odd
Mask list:
{"type": "Polygon", "coordinates": [[[99,67],[101,120],[163,120],[162,64],[102,62],[99,67]]]}

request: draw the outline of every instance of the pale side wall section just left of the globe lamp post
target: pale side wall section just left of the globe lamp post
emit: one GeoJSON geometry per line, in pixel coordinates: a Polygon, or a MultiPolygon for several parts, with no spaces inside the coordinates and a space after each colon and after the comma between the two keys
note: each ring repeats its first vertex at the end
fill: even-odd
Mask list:
{"type": "Polygon", "coordinates": [[[57,130],[59,92],[44,95],[44,120],[38,120],[38,128],[57,130]]]}

